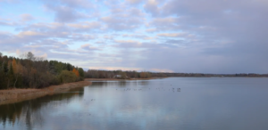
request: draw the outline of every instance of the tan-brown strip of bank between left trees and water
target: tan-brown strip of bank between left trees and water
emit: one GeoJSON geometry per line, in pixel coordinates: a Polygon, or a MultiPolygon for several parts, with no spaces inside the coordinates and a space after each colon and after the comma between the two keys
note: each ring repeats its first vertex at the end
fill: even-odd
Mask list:
{"type": "Polygon", "coordinates": [[[85,85],[91,85],[91,82],[80,81],[63,85],[51,85],[43,89],[0,90],[0,105],[35,99],[47,94],[62,93],[70,90],[71,88],[83,87],[85,85]]]}

